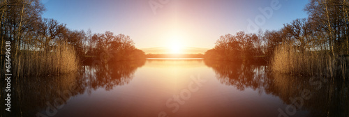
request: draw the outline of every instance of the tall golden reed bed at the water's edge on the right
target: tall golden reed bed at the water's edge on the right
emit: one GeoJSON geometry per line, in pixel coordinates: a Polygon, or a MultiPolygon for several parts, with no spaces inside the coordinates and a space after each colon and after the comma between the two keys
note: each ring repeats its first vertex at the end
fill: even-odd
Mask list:
{"type": "Polygon", "coordinates": [[[292,45],[276,47],[272,70],[288,75],[346,77],[349,76],[348,60],[324,51],[299,51],[292,45]]]}

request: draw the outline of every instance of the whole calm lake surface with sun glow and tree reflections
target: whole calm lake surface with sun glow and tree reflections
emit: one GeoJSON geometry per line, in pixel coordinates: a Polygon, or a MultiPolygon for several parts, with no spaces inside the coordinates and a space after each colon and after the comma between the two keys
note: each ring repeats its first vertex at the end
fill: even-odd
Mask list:
{"type": "Polygon", "coordinates": [[[84,65],[79,74],[21,79],[11,112],[1,98],[1,116],[348,117],[345,81],[268,71],[202,59],[84,65]]]}

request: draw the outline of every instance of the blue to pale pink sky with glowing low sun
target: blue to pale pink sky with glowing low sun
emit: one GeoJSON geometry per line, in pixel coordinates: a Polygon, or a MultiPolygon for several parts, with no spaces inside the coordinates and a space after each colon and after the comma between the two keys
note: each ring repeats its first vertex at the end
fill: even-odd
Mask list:
{"type": "Polygon", "coordinates": [[[43,17],[64,23],[69,29],[84,31],[91,29],[93,33],[105,31],[124,33],[131,37],[137,48],[146,53],[156,53],[156,49],[168,49],[170,53],[185,54],[203,53],[213,48],[220,36],[228,33],[235,34],[237,31],[257,33],[258,29],[263,31],[281,29],[283,24],[297,18],[308,17],[303,10],[308,2],[307,0],[42,0],[46,8],[43,17]],[[156,14],[151,6],[154,9],[157,7],[156,14]],[[195,52],[188,49],[195,49],[195,52]]]}

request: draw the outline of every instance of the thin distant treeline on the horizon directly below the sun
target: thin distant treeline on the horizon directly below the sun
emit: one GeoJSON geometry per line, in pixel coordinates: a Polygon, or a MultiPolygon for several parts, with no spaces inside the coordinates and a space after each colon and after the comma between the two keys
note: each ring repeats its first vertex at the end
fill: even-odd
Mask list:
{"type": "Polygon", "coordinates": [[[147,54],[147,58],[203,58],[204,54],[147,54]]]}

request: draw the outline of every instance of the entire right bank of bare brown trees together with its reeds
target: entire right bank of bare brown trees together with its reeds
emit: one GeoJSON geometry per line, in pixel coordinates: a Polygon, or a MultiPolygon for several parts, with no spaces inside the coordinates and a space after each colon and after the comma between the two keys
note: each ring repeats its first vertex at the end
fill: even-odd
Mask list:
{"type": "MultiPolygon", "coordinates": [[[[308,18],[293,20],[279,30],[221,36],[205,59],[250,62],[265,59],[275,71],[314,75],[341,70],[348,74],[349,1],[311,0],[308,18]]],[[[348,76],[347,76],[348,77],[348,76]]]]}

